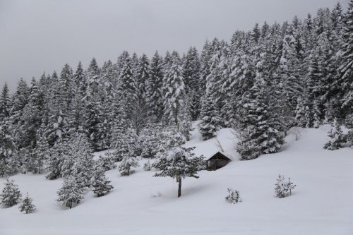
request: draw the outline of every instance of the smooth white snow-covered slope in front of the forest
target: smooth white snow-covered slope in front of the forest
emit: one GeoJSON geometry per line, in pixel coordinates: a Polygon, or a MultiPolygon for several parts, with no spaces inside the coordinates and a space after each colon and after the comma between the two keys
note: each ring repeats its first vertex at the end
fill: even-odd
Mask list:
{"type": "MultiPolygon", "coordinates": [[[[222,149],[233,159],[217,171],[201,171],[199,179],[177,183],[152,177],[142,167],[120,177],[107,172],[114,191],[102,198],[92,193],[71,210],[56,203],[61,179],[44,175],[11,177],[37,206],[32,215],[18,206],[0,209],[0,235],[12,234],[353,234],[353,150],[323,150],[328,126],[289,134],[282,151],[247,162],[237,160],[236,138],[230,129],[218,135],[222,149]],[[292,196],[275,198],[278,174],[297,184],[292,196]],[[242,203],[225,202],[227,188],[240,191],[242,203]]],[[[201,141],[197,131],[188,146],[210,157],[220,150],[217,140],[201,141]]],[[[3,187],[4,179],[0,179],[3,187]]]]}

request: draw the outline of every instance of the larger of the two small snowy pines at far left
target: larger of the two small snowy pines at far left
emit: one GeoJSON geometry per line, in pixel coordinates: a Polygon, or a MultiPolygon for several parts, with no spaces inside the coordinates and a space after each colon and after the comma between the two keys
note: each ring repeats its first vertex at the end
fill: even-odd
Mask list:
{"type": "Polygon", "coordinates": [[[21,193],[18,185],[15,184],[13,179],[6,179],[5,186],[0,194],[0,204],[4,207],[12,207],[20,203],[21,193]]]}

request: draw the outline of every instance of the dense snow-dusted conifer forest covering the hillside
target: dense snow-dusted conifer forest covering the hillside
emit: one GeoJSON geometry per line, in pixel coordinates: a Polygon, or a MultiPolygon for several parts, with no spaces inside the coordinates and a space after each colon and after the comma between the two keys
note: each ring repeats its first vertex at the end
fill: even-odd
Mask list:
{"type": "Polygon", "coordinates": [[[68,207],[80,202],[83,188],[109,192],[104,171],[120,162],[128,176],[136,157],[160,159],[155,176],[181,185],[203,168],[192,148],[182,147],[193,121],[203,140],[234,128],[242,160],[278,152],[294,126],[329,123],[338,133],[346,124],[349,133],[326,147],[353,145],[353,0],[347,11],[337,4],[316,16],[256,24],[229,41],[206,41],[201,51],[117,56],[101,67],[93,58],[88,66],[21,78],[13,92],[2,87],[0,176],[64,177],[58,200],[68,207]],[[109,152],[93,160],[102,150],[109,152]]]}

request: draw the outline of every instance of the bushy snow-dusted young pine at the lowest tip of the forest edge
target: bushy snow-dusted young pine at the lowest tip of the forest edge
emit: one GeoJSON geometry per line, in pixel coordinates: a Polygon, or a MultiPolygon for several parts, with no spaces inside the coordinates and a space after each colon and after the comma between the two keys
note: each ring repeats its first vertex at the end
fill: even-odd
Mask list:
{"type": "Polygon", "coordinates": [[[83,188],[78,185],[77,180],[74,176],[68,176],[64,178],[63,185],[57,191],[58,202],[61,202],[62,205],[66,207],[73,206],[73,203],[80,203],[80,200],[83,199],[83,188]]]}

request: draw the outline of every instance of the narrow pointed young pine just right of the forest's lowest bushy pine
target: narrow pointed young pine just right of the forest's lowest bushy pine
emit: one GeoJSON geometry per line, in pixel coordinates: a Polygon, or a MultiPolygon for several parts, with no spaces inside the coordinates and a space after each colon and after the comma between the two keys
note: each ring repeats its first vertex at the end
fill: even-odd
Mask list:
{"type": "Polygon", "coordinates": [[[90,182],[93,188],[93,193],[97,194],[97,197],[106,195],[114,188],[112,185],[110,185],[110,182],[111,181],[109,181],[104,175],[104,168],[100,162],[97,162],[97,164],[95,164],[95,169],[93,171],[92,179],[90,182]]]}

